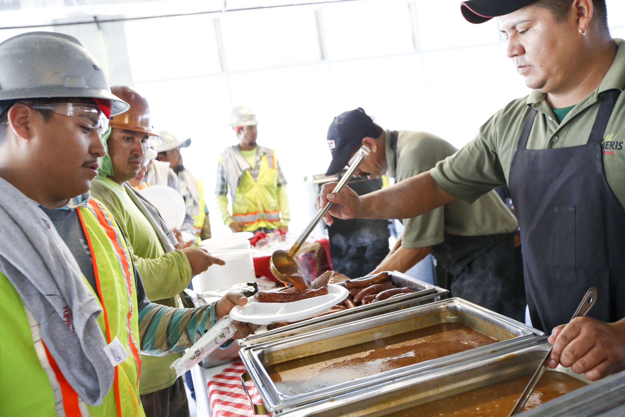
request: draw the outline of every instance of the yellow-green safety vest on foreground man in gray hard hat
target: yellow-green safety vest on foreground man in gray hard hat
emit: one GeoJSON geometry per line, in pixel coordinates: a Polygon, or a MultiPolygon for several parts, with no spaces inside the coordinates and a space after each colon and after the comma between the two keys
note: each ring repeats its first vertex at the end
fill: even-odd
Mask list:
{"type": "Polygon", "coordinates": [[[99,406],[78,398],[39,336],[39,325],[0,273],[0,416],[144,417],[139,399],[138,303],[134,272],[113,215],[94,198],[78,215],[87,238],[103,313],[106,341],[118,338],[128,358],[115,369],[111,390],[99,406]]]}

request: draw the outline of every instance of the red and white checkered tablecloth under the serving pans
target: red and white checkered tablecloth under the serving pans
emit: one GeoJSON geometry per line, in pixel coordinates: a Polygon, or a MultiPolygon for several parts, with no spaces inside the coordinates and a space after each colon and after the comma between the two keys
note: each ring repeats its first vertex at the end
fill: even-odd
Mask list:
{"type": "MultiPolygon", "coordinates": [[[[241,374],[245,371],[242,362],[235,362],[232,363],[232,366],[209,379],[207,385],[211,416],[247,417],[255,415],[249,398],[241,386],[241,374]]],[[[247,389],[252,401],[255,404],[261,404],[262,399],[254,383],[248,382],[247,389]]]]}

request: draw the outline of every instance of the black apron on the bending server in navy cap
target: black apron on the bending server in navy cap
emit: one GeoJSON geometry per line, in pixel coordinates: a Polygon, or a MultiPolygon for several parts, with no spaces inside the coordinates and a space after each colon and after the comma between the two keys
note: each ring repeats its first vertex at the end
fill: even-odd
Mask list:
{"type": "MultiPolygon", "coordinates": [[[[397,166],[397,131],[391,131],[391,149],[397,166]]],[[[437,264],[452,274],[452,297],[524,321],[526,296],[520,258],[514,250],[514,233],[457,236],[445,233],[432,246],[437,264]]],[[[438,283],[441,284],[441,283],[438,283]]]]}

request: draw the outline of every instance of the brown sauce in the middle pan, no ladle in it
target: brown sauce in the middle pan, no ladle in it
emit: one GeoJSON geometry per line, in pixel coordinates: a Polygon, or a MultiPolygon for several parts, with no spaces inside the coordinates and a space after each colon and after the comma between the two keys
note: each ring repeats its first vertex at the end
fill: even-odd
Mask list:
{"type": "Polygon", "coordinates": [[[443,323],[278,363],[267,372],[282,393],[302,394],[496,341],[464,324],[443,323]]]}

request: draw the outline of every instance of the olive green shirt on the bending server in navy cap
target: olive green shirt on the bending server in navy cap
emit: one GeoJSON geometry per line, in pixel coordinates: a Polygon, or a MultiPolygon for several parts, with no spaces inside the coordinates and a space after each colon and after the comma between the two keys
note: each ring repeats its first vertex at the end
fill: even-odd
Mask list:
{"type": "MultiPolygon", "coordinates": [[[[397,148],[391,148],[391,132],[386,131],[387,174],[395,182],[414,177],[434,168],[438,161],[456,153],[451,143],[423,132],[399,131],[397,148]]],[[[511,233],[518,224],[506,204],[494,191],[474,204],[457,200],[429,213],[404,219],[402,246],[423,248],[444,241],[444,234],[457,236],[484,236],[511,233]]]]}

